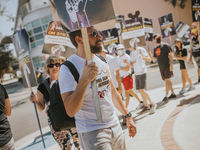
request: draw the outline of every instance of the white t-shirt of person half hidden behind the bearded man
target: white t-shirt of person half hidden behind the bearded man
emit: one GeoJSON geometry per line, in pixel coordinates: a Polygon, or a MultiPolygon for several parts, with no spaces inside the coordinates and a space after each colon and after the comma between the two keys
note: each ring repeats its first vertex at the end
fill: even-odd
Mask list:
{"type": "Polygon", "coordinates": [[[115,88],[118,88],[118,82],[117,82],[117,79],[116,79],[115,71],[118,70],[120,67],[119,67],[117,58],[106,54],[106,61],[108,62],[108,65],[109,65],[110,74],[111,74],[113,84],[114,84],[115,88]]]}

